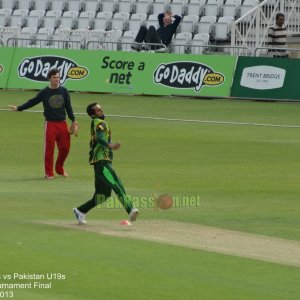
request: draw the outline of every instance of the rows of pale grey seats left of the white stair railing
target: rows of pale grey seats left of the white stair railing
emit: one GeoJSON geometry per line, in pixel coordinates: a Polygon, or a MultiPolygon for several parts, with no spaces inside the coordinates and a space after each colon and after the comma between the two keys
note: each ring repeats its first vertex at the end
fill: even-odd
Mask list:
{"type": "MultiPolygon", "coordinates": [[[[224,18],[237,19],[256,4],[256,0],[0,0],[0,27],[18,27],[22,38],[28,36],[30,40],[32,32],[27,27],[36,28],[36,38],[43,40],[41,46],[51,45],[51,41],[44,41],[46,39],[65,37],[65,43],[52,46],[84,48],[89,41],[97,42],[101,38],[103,41],[114,39],[111,49],[116,49],[113,44],[116,40],[121,41],[119,49],[128,51],[141,24],[157,28],[158,14],[170,10],[183,17],[173,42],[180,44],[188,40],[195,46],[208,41],[228,42],[230,25],[224,18]],[[185,33],[191,37],[187,38],[185,33]],[[82,46],[78,46],[78,42],[82,46]]],[[[13,35],[14,30],[7,30],[5,36],[9,32],[13,35]]],[[[199,47],[202,50],[196,51],[195,48],[189,49],[186,44],[173,50],[195,54],[204,49],[199,47]]]]}

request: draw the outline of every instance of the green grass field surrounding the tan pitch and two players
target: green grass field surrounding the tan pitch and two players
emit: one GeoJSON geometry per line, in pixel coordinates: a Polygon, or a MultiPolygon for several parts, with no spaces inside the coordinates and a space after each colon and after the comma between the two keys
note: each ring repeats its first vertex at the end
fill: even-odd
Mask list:
{"type": "MultiPolygon", "coordinates": [[[[74,224],[72,208],[93,194],[84,112],[98,101],[114,115],[107,118],[122,143],[114,167],[129,195],[200,199],[199,207],[141,208],[134,226],[170,220],[299,242],[298,103],[72,93],[74,111],[82,114],[66,163],[70,177],[46,181],[42,114],[5,110],[35,94],[0,91],[0,284],[51,287],[0,287],[0,298],[13,291],[21,300],[299,299],[297,266],[42,223],[74,224]]],[[[97,208],[87,220],[124,218],[122,209],[97,208]]]]}

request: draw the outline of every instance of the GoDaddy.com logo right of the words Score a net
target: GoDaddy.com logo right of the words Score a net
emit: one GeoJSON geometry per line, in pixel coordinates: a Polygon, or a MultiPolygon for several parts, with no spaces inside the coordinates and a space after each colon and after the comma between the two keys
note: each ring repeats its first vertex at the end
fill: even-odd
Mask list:
{"type": "Polygon", "coordinates": [[[222,84],[224,75],[203,64],[176,62],[159,65],[154,72],[154,82],[178,89],[194,88],[198,92],[203,85],[222,84]]]}

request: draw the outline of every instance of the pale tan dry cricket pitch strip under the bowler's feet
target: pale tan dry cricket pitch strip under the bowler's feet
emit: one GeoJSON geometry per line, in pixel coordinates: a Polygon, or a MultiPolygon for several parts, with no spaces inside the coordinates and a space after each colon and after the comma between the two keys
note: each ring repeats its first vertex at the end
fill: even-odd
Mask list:
{"type": "Polygon", "coordinates": [[[118,221],[41,223],[300,267],[300,242],[293,240],[166,220],[138,220],[132,226],[122,226],[118,221]]]}

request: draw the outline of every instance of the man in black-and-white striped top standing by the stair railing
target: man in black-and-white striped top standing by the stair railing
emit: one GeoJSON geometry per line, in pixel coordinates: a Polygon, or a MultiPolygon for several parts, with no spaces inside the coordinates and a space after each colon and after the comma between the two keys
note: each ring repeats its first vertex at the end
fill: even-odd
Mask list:
{"type": "Polygon", "coordinates": [[[284,25],[285,16],[283,13],[276,14],[276,23],[268,29],[268,53],[272,57],[288,57],[287,48],[287,29],[284,25]],[[272,49],[274,48],[274,49],[272,49]]]}

